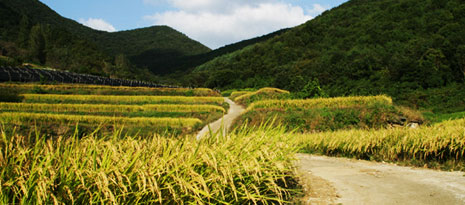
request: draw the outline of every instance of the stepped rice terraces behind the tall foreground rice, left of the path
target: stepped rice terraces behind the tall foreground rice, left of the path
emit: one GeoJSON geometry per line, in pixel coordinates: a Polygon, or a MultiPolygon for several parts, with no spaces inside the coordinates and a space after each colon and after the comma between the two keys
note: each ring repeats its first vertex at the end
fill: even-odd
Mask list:
{"type": "Polygon", "coordinates": [[[38,127],[42,133],[50,135],[69,134],[74,126],[83,128],[80,130],[100,129],[104,132],[112,132],[118,126],[132,134],[169,132],[178,135],[194,133],[226,113],[224,99],[209,97],[209,93],[214,93],[210,89],[0,84],[2,86],[20,88],[23,100],[0,103],[1,122],[13,125],[10,128],[17,127],[18,131],[38,127]],[[56,93],[70,90],[127,92],[123,95],[31,94],[32,89],[37,88],[56,93]],[[126,95],[137,91],[176,95],[126,95]],[[179,96],[199,92],[204,96],[179,96]]]}

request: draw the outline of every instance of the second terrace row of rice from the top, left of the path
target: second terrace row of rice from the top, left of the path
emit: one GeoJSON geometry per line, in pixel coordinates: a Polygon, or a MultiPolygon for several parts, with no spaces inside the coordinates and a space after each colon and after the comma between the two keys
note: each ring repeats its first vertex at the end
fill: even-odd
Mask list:
{"type": "Polygon", "coordinates": [[[185,96],[111,96],[111,95],[51,95],[23,94],[28,103],[87,103],[87,104],[217,104],[222,97],[185,96]]]}

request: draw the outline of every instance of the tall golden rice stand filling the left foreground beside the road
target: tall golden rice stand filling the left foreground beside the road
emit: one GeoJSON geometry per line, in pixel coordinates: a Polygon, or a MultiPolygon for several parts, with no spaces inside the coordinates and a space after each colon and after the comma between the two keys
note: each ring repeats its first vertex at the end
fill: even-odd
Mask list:
{"type": "Polygon", "coordinates": [[[282,204],[295,148],[279,128],[228,136],[0,137],[2,204],[282,204]]]}

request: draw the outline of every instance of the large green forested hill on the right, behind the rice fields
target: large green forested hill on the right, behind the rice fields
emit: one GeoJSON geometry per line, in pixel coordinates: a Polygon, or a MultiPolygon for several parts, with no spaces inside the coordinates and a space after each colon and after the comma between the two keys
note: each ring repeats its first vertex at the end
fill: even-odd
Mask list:
{"type": "Polygon", "coordinates": [[[465,78],[461,0],[351,0],[270,40],[215,58],[192,78],[218,88],[321,85],[396,95],[465,78]]]}

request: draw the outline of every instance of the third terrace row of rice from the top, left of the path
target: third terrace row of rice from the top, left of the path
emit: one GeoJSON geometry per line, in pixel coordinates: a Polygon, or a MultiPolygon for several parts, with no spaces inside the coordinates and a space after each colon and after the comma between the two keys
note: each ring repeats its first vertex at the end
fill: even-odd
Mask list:
{"type": "Polygon", "coordinates": [[[111,104],[43,104],[43,103],[0,103],[0,110],[6,111],[42,111],[42,112],[85,112],[85,113],[127,113],[127,112],[226,112],[217,105],[111,105],[111,104]]]}

